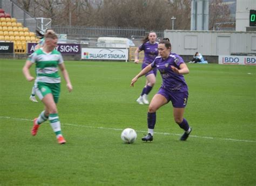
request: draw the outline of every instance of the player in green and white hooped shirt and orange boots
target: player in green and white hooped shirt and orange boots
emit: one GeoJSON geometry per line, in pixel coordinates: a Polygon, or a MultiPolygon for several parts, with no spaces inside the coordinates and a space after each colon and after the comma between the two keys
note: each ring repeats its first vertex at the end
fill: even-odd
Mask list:
{"type": "Polygon", "coordinates": [[[36,64],[36,94],[45,105],[45,110],[42,111],[38,118],[33,121],[31,130],[32,135],[36,135],[38,127],[44,121],[49,119],[53,131],[56,134],[59,144],[65,144],[63,138],[58,111],[56,104],[58,103],[60,93],[60,76],[58,74],[58,67],[63,74],[66,81],[66,87],[72,91],[72,85],[69,79],[68,71],[64,66],[62,55],[55,50],[57,46],[58,37],[55,33],[46,33],[45,45],[39,48],[31,55],[31,59],[27,60],[23,67],[23,74],[26,80],[33,81],[34,77],[30,75],[29,68],[33,63],[36,64]]]}

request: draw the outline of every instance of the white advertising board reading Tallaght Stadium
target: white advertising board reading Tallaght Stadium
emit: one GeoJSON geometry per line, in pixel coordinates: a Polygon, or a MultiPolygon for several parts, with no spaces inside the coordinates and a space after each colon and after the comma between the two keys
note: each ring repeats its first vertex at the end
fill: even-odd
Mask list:
{"type": "Polygon", "coordinates": [[[86,60],[128,60],[128,49],[82,48],[81,59],[86,60]]]}

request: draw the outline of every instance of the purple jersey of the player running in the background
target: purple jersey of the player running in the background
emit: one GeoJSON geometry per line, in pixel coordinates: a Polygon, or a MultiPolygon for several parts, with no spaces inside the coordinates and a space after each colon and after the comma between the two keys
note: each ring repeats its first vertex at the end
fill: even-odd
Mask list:
{"type": "Polygon", "coordinates": [[[151,44],[149,41],[139,46],[140,51],[144,51],[144,60],[143,63],[149,65],[154,61],[156,56],[158,56],[158,43],[151,44]]]}

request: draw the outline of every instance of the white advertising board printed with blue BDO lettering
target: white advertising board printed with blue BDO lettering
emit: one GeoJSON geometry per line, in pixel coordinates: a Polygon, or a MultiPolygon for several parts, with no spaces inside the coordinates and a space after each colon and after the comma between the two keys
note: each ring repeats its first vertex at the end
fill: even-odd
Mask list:
{"type": "Polygon", "coordinates": [[[219,55],[219,64],[256,65],[256,56],[219,55]]]}

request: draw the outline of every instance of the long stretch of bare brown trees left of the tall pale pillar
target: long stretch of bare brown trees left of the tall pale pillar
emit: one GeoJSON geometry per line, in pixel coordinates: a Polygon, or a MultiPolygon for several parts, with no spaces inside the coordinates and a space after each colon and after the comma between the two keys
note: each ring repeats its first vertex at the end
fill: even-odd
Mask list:
{"type": "MultiPolygon", "coordinates": [[[[137,27],[145,30],[190,29],[191,0],[17,0],[36,17],[58,26],[137,27]]],[[[220,1],[220,0],[218,0],[220,1]]]]}

